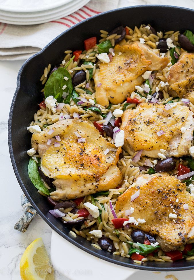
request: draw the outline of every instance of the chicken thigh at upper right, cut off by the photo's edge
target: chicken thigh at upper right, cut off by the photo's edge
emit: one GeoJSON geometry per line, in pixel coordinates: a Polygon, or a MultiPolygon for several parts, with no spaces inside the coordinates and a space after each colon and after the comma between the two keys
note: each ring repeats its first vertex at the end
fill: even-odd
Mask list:
{"type": "Polygon", "coordinates": [[[194,53],[183,51],[178,62],[170,68],[167,82],[170,93],[176,92],[180,98],[194,103],[194,53]]]}

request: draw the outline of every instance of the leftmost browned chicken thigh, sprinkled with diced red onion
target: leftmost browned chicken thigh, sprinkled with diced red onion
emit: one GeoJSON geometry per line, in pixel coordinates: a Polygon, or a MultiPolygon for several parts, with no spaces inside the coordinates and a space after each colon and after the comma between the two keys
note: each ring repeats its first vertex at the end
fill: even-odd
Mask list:
{"type": "Polygon", "coordinates": [[[32,147],[41,156],[41,170],[56,179],[54,200],[74,199],[83,195],[117,187],[122,182],[122,173],[116,166],[121,148],[108,143],[90,121],[70,119],[57,122],[40,133],[32,135],[32,147]],[[51,129],[54,132],[48,135],[51,129]],[[78,143],[77,132],[83,143],[78,143]],[[54,147],[54,138],[60,136],[59,147],[54,147]],[[47,140],[51,138],[51,144],[47,140]],[[104,155],[106,149],[109,153],[104,155]]]}

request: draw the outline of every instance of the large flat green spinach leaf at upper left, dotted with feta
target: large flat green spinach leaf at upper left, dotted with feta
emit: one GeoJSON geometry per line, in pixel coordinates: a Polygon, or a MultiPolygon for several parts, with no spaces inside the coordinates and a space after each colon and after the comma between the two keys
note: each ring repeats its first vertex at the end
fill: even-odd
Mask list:
{"type": "Polygon", "coordinates": [[[45,84],[45,98],[49,95],[53,95],[54,97],[57,97],[57,102],[61,102],[63,99],[63,92],[69,91],[69,93],[71,94],[72,89],[73,87],[71,76],[65,68],[61,67],[55,70],[48,78],[45,84]],[[64,77],[67,77],[68,80],[64,80],[64,77]],[[65,89],[62,89],[63,87],[65,87],[65,89]]]}

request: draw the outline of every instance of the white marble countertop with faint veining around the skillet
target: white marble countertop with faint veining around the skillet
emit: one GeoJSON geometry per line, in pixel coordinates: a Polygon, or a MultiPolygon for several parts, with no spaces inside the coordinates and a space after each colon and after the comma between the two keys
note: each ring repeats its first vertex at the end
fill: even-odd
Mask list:
{"type": "MultiPolygon", "coordinates": [[[[194,9],[194,0],[120,0],[119,7],[145,4],[176,5],[194,9]]],[[[34,218],[28,230],[20,233],[14,224],[22,215],[20,197],[22,190],[15,177],[9,157],[7,124],[9,108],[16,89],[17,74],[24,60],[0,62],[0,155],[1,155],[1,211],[0,211],[0,279],[20,280],[19,264],[26,247],[38,237],[43,238],[47,251],[50,250],[51,229],[40,217],[34,218]]],[[[187,272],[185,272],[186,275],[187,272]]],[[[182,274],[182,273],[180,273],[182,274]]],[[[180,275],[179,274],[179,275],[180,275]]],[[[182,274],[183,276],[183,274],[182,274]]],[[[177,277],[177,275],[176,275],[177,277]]],[[[182,277],[181,277],[182,278],[182,277]]],[[[66,279],[55,273],[55,279],[66,279]]],[[[153,279],[153,278],[152,278],[153,279]]],[[[154,279],[157,279],[156,275],[154,279]]]]}

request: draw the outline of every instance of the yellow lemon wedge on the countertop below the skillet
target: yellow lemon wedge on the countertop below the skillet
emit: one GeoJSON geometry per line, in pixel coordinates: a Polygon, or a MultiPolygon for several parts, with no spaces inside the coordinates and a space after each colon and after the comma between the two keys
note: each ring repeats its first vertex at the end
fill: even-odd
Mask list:
{"type": "Polygon", "coordinates": [[[22,280],[54,280],[54,269],[49,261],[42,238],[35,239],[20,260],[22,280]]]}

